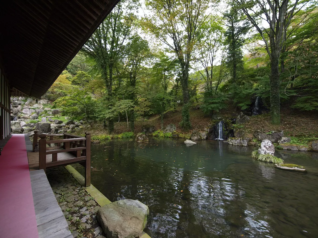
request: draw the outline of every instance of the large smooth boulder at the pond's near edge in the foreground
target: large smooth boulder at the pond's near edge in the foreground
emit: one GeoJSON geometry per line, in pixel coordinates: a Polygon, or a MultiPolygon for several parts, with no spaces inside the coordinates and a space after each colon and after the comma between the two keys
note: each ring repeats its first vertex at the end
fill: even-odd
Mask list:
{"type": "Polygon", "coordinates": [[[134,238],[142,236],[148,215],[148,206],[124,199],[99,208],[97,221],[107,238],[134,238]]]}

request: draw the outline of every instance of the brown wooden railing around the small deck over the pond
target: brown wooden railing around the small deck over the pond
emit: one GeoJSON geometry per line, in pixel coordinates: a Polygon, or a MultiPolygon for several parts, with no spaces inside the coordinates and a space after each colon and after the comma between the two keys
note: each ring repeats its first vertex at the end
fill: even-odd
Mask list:
{"type": "MultiPolygon", "coordinates": [[[[35,134],[34,134],[35,135],[35,134]]],[[[36,135],[37,137],[37,135],[36,135]]],[[[33,136],[33,149],[36,144],[36,137],[33,136]]],[[[75,136],[70,134],[41,134],[39,140],[39,169],[55,166],[65,166],[68,164],[79,163],[85,168],[85,186],[91,184],[91,136],[90,133],[85,133],[85,137],[75,136]],[[63,139],[53,140],[54,136],[63,136],[63,139]],[[46,137],[50,137],[46,140],[46,137]],[[61,144],[63,145],[61,146],[61,144]],[[50,146],[47,147],[46,145],[50,146]],[[56,146],[55,146],[56,145],[56,146]],[[63,158],[62,155],[58,154],[68,152],[74,157],[63,158]],[[46,161],[46,155],[52,155],[52,161],[46,161]]],[[[65,154],[64,154],[65,155],[65,154]]],[[[69,156],[67,156],[69,157],[69,156]]]]}

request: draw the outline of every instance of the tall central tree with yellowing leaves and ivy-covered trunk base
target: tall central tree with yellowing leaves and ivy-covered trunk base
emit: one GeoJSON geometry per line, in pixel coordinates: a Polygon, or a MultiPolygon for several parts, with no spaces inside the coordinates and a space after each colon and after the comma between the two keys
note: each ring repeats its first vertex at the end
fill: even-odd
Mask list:
{"type": "Polygon", "coordinates": [[[176,54],[181,68],[183,91],[182,121],[180,125],[191,127],[189,114],[189,66],[196,40],[196,33],[204,22],[204,13],[210,1],[207,0],[154,0],[146,1],[153,13],[144,19],[144,26],[176,54]]]}

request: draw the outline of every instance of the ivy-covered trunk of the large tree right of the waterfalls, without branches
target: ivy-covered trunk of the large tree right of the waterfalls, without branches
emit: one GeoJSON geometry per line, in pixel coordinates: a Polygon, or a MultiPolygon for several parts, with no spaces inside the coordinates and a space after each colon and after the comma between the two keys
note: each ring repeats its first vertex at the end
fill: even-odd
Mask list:
{"type": "Polygon", "coordinates": [[[279,71],[279,54],[272,50],[271,54],[271,123],[280,124],[280,71],[279,71]]]}

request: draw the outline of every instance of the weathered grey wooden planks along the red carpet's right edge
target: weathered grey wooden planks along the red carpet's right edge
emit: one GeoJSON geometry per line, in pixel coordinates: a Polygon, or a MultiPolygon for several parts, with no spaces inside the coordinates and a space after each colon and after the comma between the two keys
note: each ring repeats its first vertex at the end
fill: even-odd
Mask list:
{"type": "Polygon", "coordinates": [[[73,238],[44,170],[30,171],[39,238],[73,238]]]}

